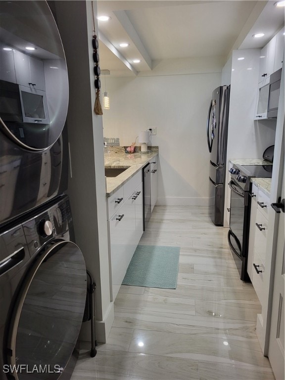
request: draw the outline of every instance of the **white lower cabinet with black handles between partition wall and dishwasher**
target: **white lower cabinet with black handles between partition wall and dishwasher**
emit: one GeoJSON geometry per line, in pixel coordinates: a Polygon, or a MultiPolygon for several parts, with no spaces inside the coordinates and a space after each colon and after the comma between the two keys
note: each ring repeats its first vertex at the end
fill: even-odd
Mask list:
{"type": "Polygon", "coordinates": [[[133,176],[122,188],[109,197],[107,202],[111,299],[114,301],[142,237],[142,172],[133,176]],[[120,203],[115,203],[116,201],[120,203]],[[112,211],[115,212],[110,216],[112,211]]]}

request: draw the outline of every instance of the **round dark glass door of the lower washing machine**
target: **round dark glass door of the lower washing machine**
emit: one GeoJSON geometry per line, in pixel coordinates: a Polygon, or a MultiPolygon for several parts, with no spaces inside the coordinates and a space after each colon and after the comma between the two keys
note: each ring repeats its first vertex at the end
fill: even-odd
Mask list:
{"type": "Polygon", "coordinates": [[[56,380],[80,332],[86,301],[82,252],[70,241],[52,244],[29,271],[8,338],[8,369],[16,380],[56,380]]]}

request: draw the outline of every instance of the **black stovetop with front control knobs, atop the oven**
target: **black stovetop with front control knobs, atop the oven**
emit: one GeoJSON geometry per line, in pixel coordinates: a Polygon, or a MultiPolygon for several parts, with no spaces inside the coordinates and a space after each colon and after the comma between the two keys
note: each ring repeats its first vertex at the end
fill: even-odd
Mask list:
{"type": "Polygon", "coordinates": [[[244,190],[250,190],[251,178],[271,178],[272,164],[268,165],[238,165],[230,169],[231,178],[244,190]]]}

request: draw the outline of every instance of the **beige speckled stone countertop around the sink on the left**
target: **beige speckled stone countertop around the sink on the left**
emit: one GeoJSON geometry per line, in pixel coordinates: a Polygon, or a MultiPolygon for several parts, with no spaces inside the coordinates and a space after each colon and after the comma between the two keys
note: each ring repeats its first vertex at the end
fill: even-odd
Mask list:
{"type": "Polygon", "coordinates": [[[151,153],[125,153],[123,146],[104,148],[105,168],[125,168],[123,173],[117,177],[106,177],[106,196],[112,195],[120,189],[130,178],[132,178],[143,166],[147,164],[156,154],[157,147],[151,147],[151,153]]]}

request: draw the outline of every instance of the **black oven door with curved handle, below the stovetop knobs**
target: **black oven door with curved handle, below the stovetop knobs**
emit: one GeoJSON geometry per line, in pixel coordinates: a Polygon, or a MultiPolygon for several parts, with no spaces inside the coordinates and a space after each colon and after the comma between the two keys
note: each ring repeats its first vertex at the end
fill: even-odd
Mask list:
{"type": "Polygon", "coordinates": [[[231,189],[231,215],[228,241],[231,250],[242,258],[244,191],[233,180],[230,181],[229,186],[231,189]]]}

